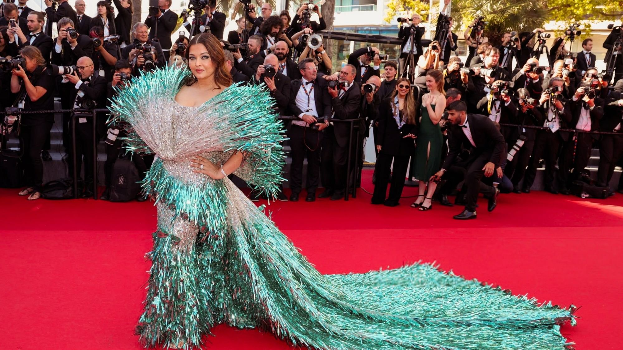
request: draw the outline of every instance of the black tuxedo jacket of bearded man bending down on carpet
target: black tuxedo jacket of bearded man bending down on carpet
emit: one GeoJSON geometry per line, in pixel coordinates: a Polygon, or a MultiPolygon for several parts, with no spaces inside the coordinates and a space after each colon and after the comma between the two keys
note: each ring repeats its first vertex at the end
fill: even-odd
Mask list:
{"type": "MultiPolygon", "coordinates": [[[[472,132],[473,143],[476,144],[472,154],[491,154],[489,161],[495,164],[496,168],[502,165],[502,160],[506,158],[506,145],[504,136],[495,127],[495,124],[487,116],[471,114],[467,115],[467,122],[472,132]]],[[[445,156],[442,169],[450,169],[454,159],[461,153],[463,144],[470,144],[460,125],[450,126],[449,152],[445,156]]]]}

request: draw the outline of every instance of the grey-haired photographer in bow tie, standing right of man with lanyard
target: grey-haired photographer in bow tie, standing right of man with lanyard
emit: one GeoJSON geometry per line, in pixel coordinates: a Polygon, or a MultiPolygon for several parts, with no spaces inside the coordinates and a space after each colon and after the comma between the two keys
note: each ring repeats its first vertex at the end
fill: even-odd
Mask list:
{"type": "MultiPolygon", "coordinates": [[[[340,84],[344,87],[340,84],[333,88],[327,87],[332,98],[333,119],[359,118],[361,90],[359,84],[354,82],[356,72],[354,65],[345,65],[340,70],[340,84]]],[[[331,201],[336,201],[344,197],[346,176],[351,176],[346,173],[349,137],[348,123],[336,122],[326,128],[320,155],[321,177],[325,191],[318,195],[318,198],[331,197],[331,201]]],[[[353,143],[353,146],[357,145],[353,143]]]]}

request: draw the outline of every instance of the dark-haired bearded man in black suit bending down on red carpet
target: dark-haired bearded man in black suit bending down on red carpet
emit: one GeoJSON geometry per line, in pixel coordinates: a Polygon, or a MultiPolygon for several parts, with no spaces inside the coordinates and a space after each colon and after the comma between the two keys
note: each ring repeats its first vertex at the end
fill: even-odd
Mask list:
{"type": "Polygon", "coordinates": [[[454,219],[476,219],[476,202],[478,192],[482,192],[488,198],[488,211],[497,206],[497,197],[500,190],[483,184],[480,180],[483,176],[490,177],[497,171],[502,177],[502,159],[506,156],[504,137],[497,130],[495,123],[487,116],[467,114],[467,105],[462,101],[450,103],[447,108],[450,125],[450,149],[445,157],[441,170],[432,179],[440,179],[446,169],[455,161],[461,153],[462,145],[468,142],[472,145],[467,159],[467,173],[465,173],[465,210],[454,219]]]}

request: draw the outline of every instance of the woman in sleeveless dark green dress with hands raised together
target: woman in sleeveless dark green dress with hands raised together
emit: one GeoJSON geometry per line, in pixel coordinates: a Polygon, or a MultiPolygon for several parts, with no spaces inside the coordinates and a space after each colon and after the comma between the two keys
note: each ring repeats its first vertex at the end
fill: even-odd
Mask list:
{"type": "Polygon", "coordinates": [[[439,121],[445,110],[444,73],[439,69],[426,73],[426,87],[429,93],[422,96],[420,133],[417,136],[416,149],[416,179],[420,181],[419,194],[416,201],[411,204],[420,210],[432,208],[432,195],[437,188],[437,182],[432,176],[441,166],[444,136],[439,128],[439,121]]]}

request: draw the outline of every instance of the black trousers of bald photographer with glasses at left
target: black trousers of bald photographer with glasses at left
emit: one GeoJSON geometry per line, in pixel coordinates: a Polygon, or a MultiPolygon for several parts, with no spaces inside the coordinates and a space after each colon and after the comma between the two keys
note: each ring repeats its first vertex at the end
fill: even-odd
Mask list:
{"type": "MultiPolygon", "coordinates": [[[[67,146],[67,154],[69,155],[69,177],[74,176],[74,165],[77,169],[77,176],[80,178],[80,169],[82,168],[82,161],[84,159],[84,180],[85,188],[88,184],[93,183],[93,121],[91,116],[87,115],[86,123],[79,123],[80,117],[76,116],[75,126],[75,142],[76,142],[76,164],[73,161],[73,149],[72,143],[67,146]]],[[[71,127],[71,126],[70,126],[71,127]]],[[[71,131],[71,129],[70,129],[71,131]]],[[[71,140],[72,134],[69,134],[71,140]]]]}

